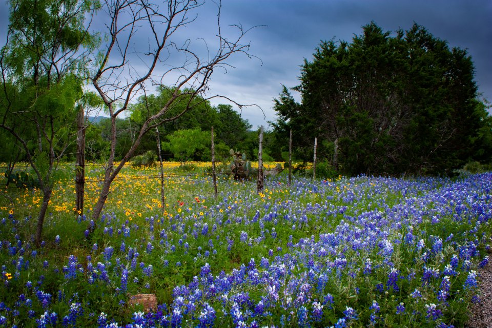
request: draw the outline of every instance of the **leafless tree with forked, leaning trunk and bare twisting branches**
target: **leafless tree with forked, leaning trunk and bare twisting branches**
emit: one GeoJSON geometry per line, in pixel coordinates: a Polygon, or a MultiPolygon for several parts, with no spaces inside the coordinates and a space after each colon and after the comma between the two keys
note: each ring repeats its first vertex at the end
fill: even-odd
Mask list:
{"type": "MultiPolygon", "coordinates": [[[[224,36],[220,26],[221,3],[214,4],[217,5],[217,32],[216,49],[212,53],[209,49],[210,41],[206,42],[204,38],[198,40],[198,48],[194,49],[190,39],[182,42],[182,45],[178,44],[178,32],[196,20],[194,12],[204,2],[167,0],[163,2],[165,7],[146,0],[106,0],[103,3],[103,11],[110,19],[106,25],[108,42],[95,58],[97,67],[90,79],[111,117],[111,147],[103,185],[92,213],[94,220],[103,210],[111,183],[133,156],[142,137],[164,122],[178,119],[201,102],[218,97],[206,93],[208,84],[214,70],[222,68],[227,71],[232,68],[228,64],[232,55],[242,53],[254,57],[249,54],[250,45],[242,41],[251,29],[244,30],[241,25],[234,25],[232,27],[237,31],[236,37],[230,39],[224,36]],[[146,51],[138,52],[135,49],[142,49],[142,39],[147,42],[146,51]],[[200,52],[200,47],[206,49],[205,53],[200,52]],[[158,112],[146,117],[130,150],[116,165],[116,118],[129,109],[135,97],[146,97],[151,88],[166,86],[172,86],[169,88],[169,100],[162,104],[158,112]],[[197,102],[197,97],[201,101],[197,102]],[[169,115],[177,104],[181,102],[182,106],[182,101],[186,101],[185,108],[177,114],[174,112],[169,115]]],[[[235,104],[242,108],[242,105],[235,104]]]]}

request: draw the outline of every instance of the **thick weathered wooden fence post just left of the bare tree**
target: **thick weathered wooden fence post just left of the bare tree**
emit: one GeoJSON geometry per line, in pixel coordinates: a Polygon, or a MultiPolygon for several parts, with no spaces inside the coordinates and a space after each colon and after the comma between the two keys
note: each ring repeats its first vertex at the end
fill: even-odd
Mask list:
{"type": "Polygon", "coordinates": [[[84,124],[84,109],[80,106],[77,117],[77,163],[75,166],[75,211],[84,212],[86,129],[84,124]]]}

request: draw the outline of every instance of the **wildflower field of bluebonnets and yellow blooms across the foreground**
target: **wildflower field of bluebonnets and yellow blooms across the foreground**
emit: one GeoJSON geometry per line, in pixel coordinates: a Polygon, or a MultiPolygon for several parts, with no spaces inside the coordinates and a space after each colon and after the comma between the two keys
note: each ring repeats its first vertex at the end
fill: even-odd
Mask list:
{"type": "Polygon", "coordinates": [[[103,168],[88,172],[77,214],[67,166],[40,247],[42,194],[2,187],[0,327],[466,323],[490,252],[492,173],[289,186],[283,172],[260,193],[219,176],[215,198],[208,166],[167,167],[163,207],[158,168],[125,168],[96,222],[103,168]],[[130,306],[139,293],[157,309],[130,306]]]}

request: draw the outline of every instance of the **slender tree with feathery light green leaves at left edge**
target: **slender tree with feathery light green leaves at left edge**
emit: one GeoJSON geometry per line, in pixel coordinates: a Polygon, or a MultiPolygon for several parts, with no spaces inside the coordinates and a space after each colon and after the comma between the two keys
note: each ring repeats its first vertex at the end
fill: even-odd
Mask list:
{"type": "Polygon", "coordinates": [[[76,101],[83,95],[86,56],[98,38],[88,32],[91,0],[10,0],[7,42],[0,55],[0,127],[10,133],[43,192],[36,243],[53,191],[56,162],[67,147],[76,101]]]}

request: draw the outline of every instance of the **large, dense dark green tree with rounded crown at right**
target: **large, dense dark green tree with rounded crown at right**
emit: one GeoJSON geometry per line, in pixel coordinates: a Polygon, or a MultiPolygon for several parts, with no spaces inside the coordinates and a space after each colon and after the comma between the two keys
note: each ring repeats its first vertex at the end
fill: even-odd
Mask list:
{"type": "Polygon", "coordinates": [[[325,140],[320,154],[344,174],[445,173],[489,147],[471,56],[417,24],[322,42],[294,90],[301,104],[285,87],[275,99],[276,131],[292,129],[307,158],[325,140]]]}

